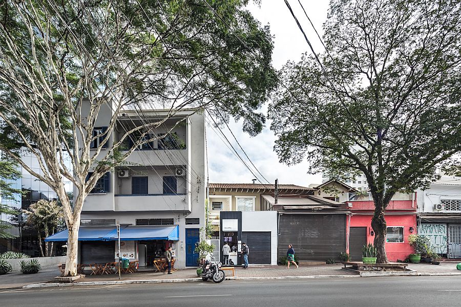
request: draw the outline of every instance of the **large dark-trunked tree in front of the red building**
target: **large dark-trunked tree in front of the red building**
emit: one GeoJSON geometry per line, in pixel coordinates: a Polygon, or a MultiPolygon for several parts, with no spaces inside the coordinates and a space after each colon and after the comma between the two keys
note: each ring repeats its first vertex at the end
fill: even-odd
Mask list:
{"type": "Polygon", "coordinates": [[[280,160],[365,175],[382,263],[394,193],[426,187],[436,166],[459,161],[460,19],[458,1],[332,0],[326,52],[280,72],[289,90],[270,105],[280,160]]]}

